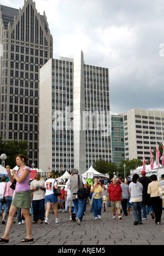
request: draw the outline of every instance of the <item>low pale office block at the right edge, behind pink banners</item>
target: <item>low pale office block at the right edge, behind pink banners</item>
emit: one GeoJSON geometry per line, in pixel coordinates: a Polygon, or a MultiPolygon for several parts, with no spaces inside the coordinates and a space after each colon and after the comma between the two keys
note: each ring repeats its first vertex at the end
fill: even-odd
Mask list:
{"type": "Polygon", "coordinates": [[[150,160],[157,144],[164,141],[164,111],[131,109],[122,114],[124,118],[125,159],[150,160]]]}

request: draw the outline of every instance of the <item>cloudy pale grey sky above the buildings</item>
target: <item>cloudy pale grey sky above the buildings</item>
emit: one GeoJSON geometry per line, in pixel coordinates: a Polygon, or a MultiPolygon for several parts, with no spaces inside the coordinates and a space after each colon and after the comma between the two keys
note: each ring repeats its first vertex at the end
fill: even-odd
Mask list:
{"type": "MultiPolygon", "coordinates": [[[[82,50],[89,65],[109,68],[114,114],[164,110],[163,0],[36,0],[48,18],[54,58],[82,50]]],[[[0,0],[22,8],[24,0],[0,0]]]]}

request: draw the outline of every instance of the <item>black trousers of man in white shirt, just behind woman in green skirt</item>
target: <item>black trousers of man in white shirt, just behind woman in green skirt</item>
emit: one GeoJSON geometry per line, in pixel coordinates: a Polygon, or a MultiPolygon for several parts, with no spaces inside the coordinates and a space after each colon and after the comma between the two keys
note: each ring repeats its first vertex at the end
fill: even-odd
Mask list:
{"type": "Polygon", "coordinates": [[[44,220],[45,213],[45,200],[33,200],[32,201],[33,208],[33,220],[38,221],[39,219],[44,220]]]}

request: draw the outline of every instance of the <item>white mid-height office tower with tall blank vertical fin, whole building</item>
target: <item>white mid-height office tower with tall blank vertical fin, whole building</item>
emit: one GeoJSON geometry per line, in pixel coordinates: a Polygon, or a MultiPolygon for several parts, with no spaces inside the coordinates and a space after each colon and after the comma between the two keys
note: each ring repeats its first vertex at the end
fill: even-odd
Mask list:
{"type": "Polygon", "coordinates": [[[85,65],[83,52],[50,60],[40,69],[39,100],[43,171],[82,174],[99,158],[112,161],[108,69],[85,65]]]}

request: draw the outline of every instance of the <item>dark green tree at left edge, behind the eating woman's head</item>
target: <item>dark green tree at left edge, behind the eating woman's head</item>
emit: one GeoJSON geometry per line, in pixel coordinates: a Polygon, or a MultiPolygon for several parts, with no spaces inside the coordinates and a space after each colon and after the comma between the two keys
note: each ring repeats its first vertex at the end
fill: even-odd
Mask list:
{"type": "Polygon", "coordinates": [[[15,156],[19,154],[27,155],[28,141],[3,141],[0,137],[0,155],[6,154],[7,159],[5,160],[5,165],[9,165],[10,168],[14,168],[15,156]]]}

